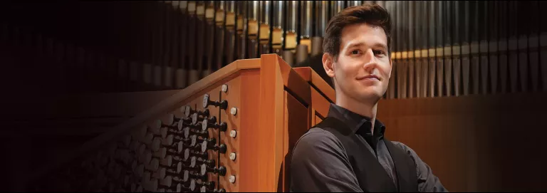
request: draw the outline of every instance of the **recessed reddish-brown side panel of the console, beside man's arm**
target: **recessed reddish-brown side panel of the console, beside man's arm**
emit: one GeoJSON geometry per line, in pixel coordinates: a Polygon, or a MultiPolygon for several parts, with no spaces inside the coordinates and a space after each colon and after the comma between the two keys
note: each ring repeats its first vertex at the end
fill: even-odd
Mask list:
{"type": "Polygon", "coordinates": [[[308,109],[287,92],[284,93],[284,128],[283,128],[283,166],[281,167],[282,182],[279,182],[277,192],[289,192],[291,185],[291,157],[294,145],[309,128],[308,109]],[[282,184],[282,185],[281,185],[282,184]]]}

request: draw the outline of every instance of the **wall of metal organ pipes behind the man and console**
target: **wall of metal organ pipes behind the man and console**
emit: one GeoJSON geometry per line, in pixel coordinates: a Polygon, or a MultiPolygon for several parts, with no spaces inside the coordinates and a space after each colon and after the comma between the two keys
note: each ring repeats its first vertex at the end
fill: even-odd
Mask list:
{"type": "MultiPolygon", "coordinates": [[[[277,53],[295,67],[321,66],[307,59],[321,57],[328,20],[348,6],[361,4],[380,4],[392,16],[394,67],[386,99],[547,88],[547,71],[541,65],[547,61],[541,54],[547,39],[540,19],[542,1],[110,2],[79,9],[115,9],[121,16],[91,17],[87,23],[101,22],[81,26],[84,31],[64,28],[82,37],[92,36],[87,32],[90,28],[112,28],[130,36],[95,33],[98,37],[91,42],[66,34],[72,40],[63,41],[55,37],[60,34],[55,31],[40,32],[46,31],[40,25],[53,21],[35,27],[6,21],[2,33],[5,39],[13,39],[7,45],[24,38],[31,41],[28,46],[61,63],[70,63],[63,58],[84,57],[71,49],[83,50],[88,58],[78,60],[89,61],[90,68],[97,70],[85,72],[118,74],[118,81],[125,82],[118,90],[166,90],[186,88],[237,59],[266,53],[277,53]],[[521,20],[526,22],[517,22],[521,20]],[[110,64],[107,59],[118,62],[110,64]]],[[[58,68],[59,73],[78,71],[65,64],[58,68]]],[[[85,81],[96,75],[89,76],[74,79],[85,81]]],[[[99,91],[109,81],[90,82],[99,91]]]]}

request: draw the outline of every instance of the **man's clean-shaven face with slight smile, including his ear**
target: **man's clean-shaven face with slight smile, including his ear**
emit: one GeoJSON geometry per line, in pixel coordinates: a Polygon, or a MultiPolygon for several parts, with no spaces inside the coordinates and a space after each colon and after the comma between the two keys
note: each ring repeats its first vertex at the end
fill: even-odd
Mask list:
{"type": "Polygon", "coordinates": [[[323,66],[334,78],[337,92],[356,101],[376,102],[384,95],[390,79],[392,63],[387,51],[382,28],[368,24],[345,26],[338,60],[331,60],[332,71],[328,71],[325,60],[323,66]]]}

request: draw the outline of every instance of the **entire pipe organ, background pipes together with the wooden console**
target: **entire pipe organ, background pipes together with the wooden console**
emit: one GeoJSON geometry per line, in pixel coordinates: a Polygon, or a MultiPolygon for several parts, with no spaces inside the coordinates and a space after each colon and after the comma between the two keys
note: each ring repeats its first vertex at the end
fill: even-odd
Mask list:
{"type": "Polygon", "coordinates": [[[44,166],[28,190],[288,191],[291,147],[335,101],[321,63],[326,25],[350,6],[392,16],[385,100],[547,90],[543,1],[9,4],[0,6],[6,82],[176,90],[44,166]]]}

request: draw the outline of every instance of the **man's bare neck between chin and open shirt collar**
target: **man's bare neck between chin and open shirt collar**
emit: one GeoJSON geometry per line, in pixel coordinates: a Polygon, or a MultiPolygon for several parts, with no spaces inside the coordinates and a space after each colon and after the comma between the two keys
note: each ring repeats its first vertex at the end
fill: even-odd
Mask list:
{"type": "Polygon", "coordinates": [[[376,111],[377,103],[363,103],[363,101],[353,100],[349,97],[340,97],[336,96],[336,105],[350,110],[353,113],[370,118],[372,127],[370,128],[371,132],[374,133],[374,122],[376,120],[376,111]]]}

